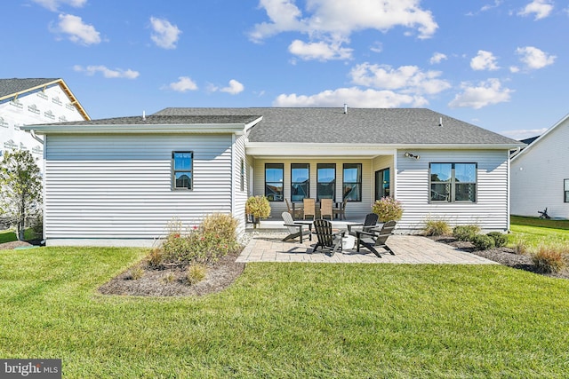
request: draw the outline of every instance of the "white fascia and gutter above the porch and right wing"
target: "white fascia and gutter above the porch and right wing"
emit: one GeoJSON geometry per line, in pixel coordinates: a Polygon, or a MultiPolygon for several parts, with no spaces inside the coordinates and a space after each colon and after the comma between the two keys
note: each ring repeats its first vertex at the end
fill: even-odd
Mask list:
{"type": "Polygon", "coordinates": [[[378,145],[248,142],[245,150],[252,156],[376,156],[392,155],[403,149],[429,150],[511,150],[518,145],[378,145]]]}

